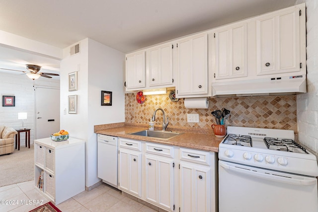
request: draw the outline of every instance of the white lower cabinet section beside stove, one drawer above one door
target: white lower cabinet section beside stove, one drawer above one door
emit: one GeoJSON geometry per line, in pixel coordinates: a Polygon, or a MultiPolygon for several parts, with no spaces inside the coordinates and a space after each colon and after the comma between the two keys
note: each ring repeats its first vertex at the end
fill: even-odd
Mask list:
{"type": "Polygon", "coordinates": [[[180,147],[180,211],[215,210],[214,152],[180,147]]]}

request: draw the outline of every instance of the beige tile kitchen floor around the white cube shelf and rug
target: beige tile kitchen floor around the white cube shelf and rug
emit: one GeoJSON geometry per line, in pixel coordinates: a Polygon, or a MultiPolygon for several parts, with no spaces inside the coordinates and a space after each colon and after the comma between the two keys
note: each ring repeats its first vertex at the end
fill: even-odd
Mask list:
{"type": "MultiPolygon", "coordinates": [[[[0,212],[29,212],[49,202],[34,187],[34,181],[0,187],[0,201],[0,212]],[[3,204],[2,200],[6,202],[3,204]]],[[[104,183],[90,191],[83,191],[57,207],[62,212],[156,212],[153,207],[128,198],[104,183]]]]}

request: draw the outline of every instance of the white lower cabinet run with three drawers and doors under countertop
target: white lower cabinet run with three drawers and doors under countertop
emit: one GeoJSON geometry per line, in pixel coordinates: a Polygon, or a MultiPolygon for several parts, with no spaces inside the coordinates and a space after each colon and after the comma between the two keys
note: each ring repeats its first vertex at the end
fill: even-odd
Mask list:
{"type": "Polygon", "coordinates": [[[168,212],[215,212],[214,152],[119,138],[119,189],[168,212]]]}

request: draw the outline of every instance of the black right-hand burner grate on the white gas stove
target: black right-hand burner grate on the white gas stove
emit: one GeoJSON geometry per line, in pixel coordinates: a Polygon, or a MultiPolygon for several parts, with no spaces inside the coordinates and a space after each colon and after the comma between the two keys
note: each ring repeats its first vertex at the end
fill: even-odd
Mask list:
{"type": "Polygon", "coordinates": [[[265,137],[264,141],[268,149],[308,154],[307,150],[303,146],[292,139],[275,139],[265,137]]]}

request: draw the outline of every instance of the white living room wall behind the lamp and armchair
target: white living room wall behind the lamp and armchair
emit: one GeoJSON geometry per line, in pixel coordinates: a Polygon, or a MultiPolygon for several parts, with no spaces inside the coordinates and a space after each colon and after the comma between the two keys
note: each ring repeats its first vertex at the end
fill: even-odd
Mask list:
{"type": "MultiPolygon", "coordinates": [[[[30,142],[33,143],[35,128],[35,98],[34,85],[59,87],[59,80],[52,80],[43,77],[33,81],[25,74],[0,73],[0,125],[14,129],[22,127],[22,120],[18,120],[19,112],[27,112],[27,119],[24,120],[24,127],[30,128],[30,142]],[[2,107],[2,96],[15,96],[15,107],[2,107]]],[[[20,145],[25,142],[25,137],[20,139],[20,145]]]]}

